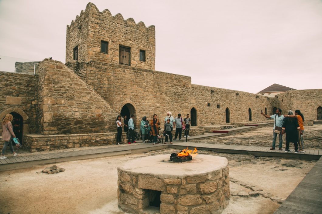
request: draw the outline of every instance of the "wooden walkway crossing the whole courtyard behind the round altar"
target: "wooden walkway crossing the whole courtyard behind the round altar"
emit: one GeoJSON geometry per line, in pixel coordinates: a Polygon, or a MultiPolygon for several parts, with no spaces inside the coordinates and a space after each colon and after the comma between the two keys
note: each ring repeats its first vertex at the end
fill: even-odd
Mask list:
{"type": "Polygon", "coordinates": [[[304,153],[295,154],[285,153],[284,150],[278,149],[270,150],[269,147],[256,147],[256,146],[234,146],[224,144],[207,144],[207,143],[194,143],[185,141],[174,141],[174,144],[126,144],[123,146],[110,146],[106,148],[89,148],[78,151],[57,152],[53,151],[47,154],[35,153],[34,155],[18,155],[16,157],[10,157],[6,159],[0,159],[0,171],[31,168],[35,165],[54,164],[63,161],[82,160],[97,157],[117,156],[144,153],[148,151],[155,151],[164,148],[177,148],[184,149],[186,147],[194,148],[198,150],[210,150],[215,152],[233,153],[233,154],[245,154],[254,156],[273,156],[281,158],[301,159],[301,160],[318,160],[322,156],[322,150],[305,150],[304,153]]]}

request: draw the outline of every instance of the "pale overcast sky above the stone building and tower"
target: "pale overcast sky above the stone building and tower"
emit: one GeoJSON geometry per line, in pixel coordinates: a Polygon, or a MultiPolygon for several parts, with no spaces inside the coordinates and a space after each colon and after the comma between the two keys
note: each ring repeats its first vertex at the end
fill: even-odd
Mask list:
{"type": "MultiPolygon", "coordinates": [[[[65,63],[66,25],[88,1],[0,0],[0,70],[15,58],[65,63]]],[[[91,2],[156,26],[158,71],[251,93],[322,88],[321,0],[91,2]]]]}

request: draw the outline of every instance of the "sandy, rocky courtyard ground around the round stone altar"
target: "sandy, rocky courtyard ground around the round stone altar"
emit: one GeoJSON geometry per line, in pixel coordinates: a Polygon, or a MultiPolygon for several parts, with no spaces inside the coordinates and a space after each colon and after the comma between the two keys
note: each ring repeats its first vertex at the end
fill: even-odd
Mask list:
{"type": "MultiPolygon", "coordinates": [[[[306,148],[320,149],[322,125],[306,128],[306,148]]],[[[271,146],[271,127],[197,142],[271,146]]],[[[144,154],[63,162],[57,166],[66,171],[59,174],[40,173],[52,165],[0,172],[0,213],[122,214],[124,212],[117,206],[118,165],[138,157],[172,152],[178,151],[168,148],[144,154]]],[[[199,153],[223,156],[229,161],[232,195],[223,214],[273,213],[279,207],[277,202],[283,201],[316,163],[212,151],[199,153]],[[258,190],[257,193],[252,189],[258,190]]]]}

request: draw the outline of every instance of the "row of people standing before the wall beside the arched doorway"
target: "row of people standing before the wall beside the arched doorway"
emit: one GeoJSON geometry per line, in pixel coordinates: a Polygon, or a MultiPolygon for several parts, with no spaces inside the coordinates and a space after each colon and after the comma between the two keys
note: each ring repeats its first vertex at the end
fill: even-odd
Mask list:
{"type": "MultiPolygon", "coordinates": [[[[182,130],[185,130],[184,137],[189,136],[189,129],[191,124],[191,119],[189,118],[189,114],[186,115],[185,119],[182,119],[181,114],[178,114],[176,118],[174,118],[170,111],[168,111],[166,118],[164,119],[164,132],[163,135],[166,137],[165,143],[169,142],[172,144],[172,131],[175,128],[175,138],[176,140],[179,136],[179,140],[182,136],[182,130]]],[[[134,123],[133,123],[134,115],[131,114],[130,119],[127,119],[127,116],[124,116],[124,121],[122,121],[122,117],[118,115],[116,119],[117,125],[117,138],[116,142],[118,145],[123,145],[122,143],[122,126],[124,126],[124,131],[128,133],[128,144],[136,143],[135,135],[134,135],[134,123]]],[[[161,123],[160,120],[157,118],[157,115],[153,115],[153,119],[149,121],[146,116],[144,116],[140,123],[140,130],[142,136],[142,142],[147,143],[149,136],[151,136],[153,140],[153,145],[159,144],[157,138],[160,137],[159,131],[161,130],[160,127],[161,123]]]]}

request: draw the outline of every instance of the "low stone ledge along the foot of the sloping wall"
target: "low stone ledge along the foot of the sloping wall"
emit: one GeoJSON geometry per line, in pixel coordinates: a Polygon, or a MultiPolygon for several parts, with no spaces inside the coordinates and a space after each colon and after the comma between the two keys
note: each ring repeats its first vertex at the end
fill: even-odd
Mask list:
{"type": "MultiPolygon", "coordinates": [[[[96,134],[72,135],[40,135],[24,136],[24,149],[29,152],[50,151],[57,149],[105,146],[116,144],[116,132],[96,134]]],[[[122,140],[127,143],[126,133],[122,133],[122,140]]]]}

